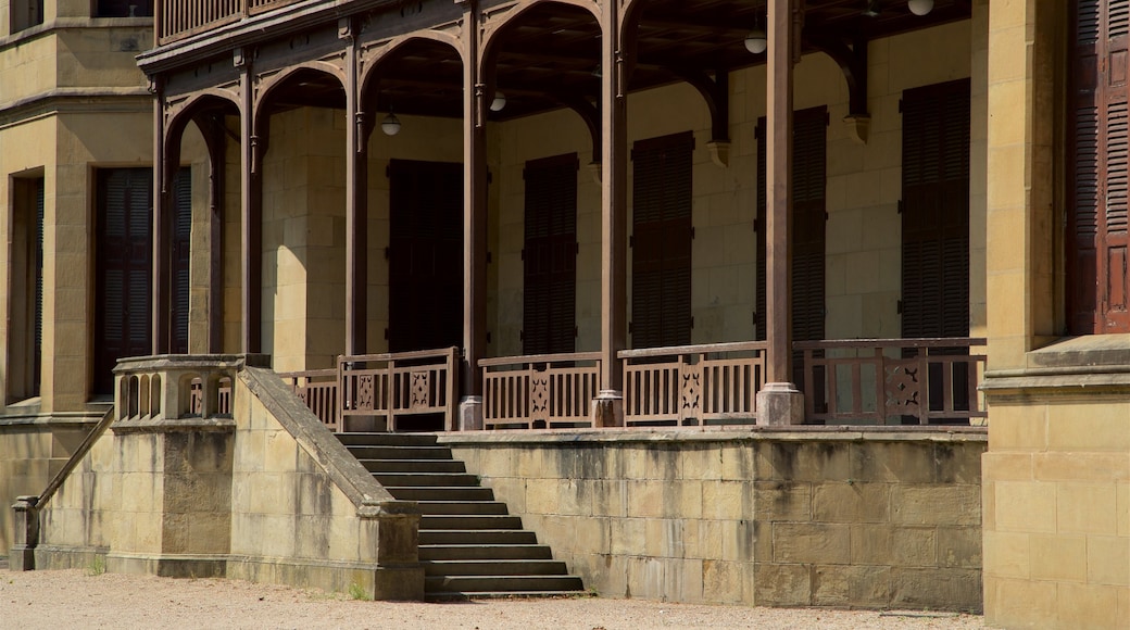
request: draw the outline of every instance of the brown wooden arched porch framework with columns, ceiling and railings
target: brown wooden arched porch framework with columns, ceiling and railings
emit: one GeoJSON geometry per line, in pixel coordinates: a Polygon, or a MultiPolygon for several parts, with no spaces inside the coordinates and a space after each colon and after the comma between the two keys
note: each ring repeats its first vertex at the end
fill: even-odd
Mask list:
{"type": "MultiPolygon", "coordinates": [[[[346,125],[344,278],[333,280],[342,285],[342,340],[340,347],[322,351],[337,357],[333,367],[279,371],[293,378],[311,408],[338,430],[394,430],[398,419],[432,414],[442,414],[445,429],[930,425],[984,417],[976,396],[984,341],[970,336],[967,287],[964,294],[939,289],[945,303],[915,305],[905,300],[907,308],[923,312],[955,310],[958,321],[964,317],[964,329],[907,327],[901,301],[906,339],[825,340],[823,325],[805,327],[802,334],[797,330],[807,325],[798,323],[798,313],[809,313],[806,321],[823,318],[826,313],[825,262],[819,259],[818,271],[806,262],[806,235],[815,228],[810,213],[798,209],[808,196],[796,182],[794,143],[806,138],[798,132],[793,115],[797,64],[807,53],[823,53],[834,61],[847,93],[844,123],[857,141],[866,143],[871,126],[868,42],[968,19],[968,2],[937,0],[924,16],[914,15],[901,1],[851,0],[435,0],[411,5],[358,0],[330,5],[228,0],[205,3],[201,9],[185,0],[158,2],[157,46],[140,61],[158,96],[155,355],[168,352],[173,326],[167,208],[185,129],[195,124],[227,130],[226,139],[209,145],[214,149],[214,234],[221,231],[225,210],[236,210],[224,208],[225,195],[236,189],[238,195],[240,243],[211,250],[209,339],[203,350],[255,353],[264,350],[263,325],[269,318],[264,316],[263,256],[259,253],[263,250],[264,196],[269,194],[269,190],[264,192],[268,147],[275,138],[271,122],[296,108],[323,108],[344,117],[346,125]],[[757,294],[750,314],[754,324],[749,332],[727,331],[718,339],[695,343],[690,326],[681,323],[692,316],[689,306],[684,313],[681,303],[662,289],[655,294],[658,301],[634,301],[643,286],[635,274],[651,261],[633,260],[644,250],[638,224],[643,194],[632,189],[640,186],[642,178],[638,174],[629,178],[629,169],[635,151],[654,147],[628,142],[633,124],[628,96],[672,84],[690,86],[710,117],[706,149],[719,168],[727,168],[736,117],[731,116],[729,77],[762,64],[765,121],[758,126],[758,150],[763,151],[758,164],[764,170],[757,181],[763,191],[757,220],[748,234],[748,247],[756,247],[759,256],[754,266],[760,278],[750,282],[757,285],[751,291],[757,294]],[[559,111],[583,121],[592,157],[588,167],[599,186],[599,243],[589,252],[593,266],[599,268],[599,330],[593,342],[585,344],[589,348],[577,351],[572,340],[564,347],[531,342],[534,336],[560,336],[554,329],[560,324],[534,330],[525,323],[520,348],[514,343],[504,347],[489,339],[490,331],[499,327],[497,312],[503,308],[489,304],[497,301],[497,291],[492,292],[496,280],[490,274],[499,273],[489,270],[514,261],[492,255],[492,238],[497,237],[488,235],[495,229],[489,186],[504,174],[489,168],[495,137],[488,134],[488,123],[506,124],[559,111]],[[457,290],[462,296],[458,322],[442,340],[406,342],[405,336],[398,336],[398,329],[403,327],[393,323],[388,329],[389,339],[381,342],[374,339],[371,325],[370,160],[374,147],[385,141],[375,131],[385,124],[395,124],[399,131],[398,116],[459,121],[461,130],[460,257],[449,261],[447,266],[458,265],[461,278],[457,290]],[[237,132],[231,129],[233,122],[237,132]],[[238,150],[229,145],[237,145],[238,150]],[[229,154],[238,158],[238,182],[225,182],[223,175],[229,154]],[[232,253],[238,260],[231,260],[232,253]],[[219,269],[225,265],[238,269],[237,306],[231,304],[231,290],[229,304],[224,304],[219,269]],[[818,291],[810,282],[814,273],[820,275],[818,291]],[[812,297],[816,292],[818,298],[812,297]],[[232,325],[224,321],[225,310],[238,312],[234,324],[238,326],[237,347],[226,343],[220,332],[232,325]],[[649,312],[675,315],[644,322],[649,312]],[[673,327],[678,330],[671,333],[669,322],[676,320],[673,327]],[[645,324],[658,332],[646,336],[645,324]],[[432,350],[447,343],[453,348],[432,350]],[[504,351],[507,348],[520,351],[504,351]],[[374,352],[376,349],[386,351],[374,352]]],[[[968,97],[964,98],[967,103],[968,97]]],[[[824,117],[826,125],[826,112],[824,117]]],[[[967,125],[968,117],[964,120],[967,125]]],[[[224,134],[219,131],[209,138],[224,134]]],[[[670,140],[675,145],[680,141],[670,140]]],[[[662,152],[667,146],[659,149],[662,152]]],[[[957,229],[964,229],[966,237],[967,161],[964,207],[957,202],[965,213],[964,227],[959,224],[957,229]]],[[[579,166],[574,160],[572,168],[579,166]]],[[[394,168],[390,164],[390,169],[394,168]]],[[[823,186],[825,181],[823,169],[802,169],[800,176],[806,184],[812,181],[823,186]]],[[[666,184],[660,180],[657,185],[666,184]]],[[[678,194],[683,193],[664,189],[658,211],[664,211],[664,199],[678,194]]],[[[823,207],[817,213],[827,215],[823,207]]],[[[689,218],[675,220],[685,220],[685,227],[694,233],[689,218]]],[[[818,220],[822,233],[823,220],[818,220]]],[[[554,246],[547,246],[547,260],[560,255],[554,246]]],[[[679,245],[684,246],[689,261],[689,239],[679,245]]],[[[580,251],[581,246],[576,247],[580,251]]],[[[668,244],[659,248],[666,250],[668,244]]],[[[391,261],[397,254],[386,255],[391,261]]],[[[966,259],[960,273],[967,279],[968,245],[956,255],[966,259]]],[[[553,266],[554,261],[547,264],[553,266]]],[[[953,262],[941,256],[923,264],[947,261],[953,262]]],[[[519,262],[523,263],[529,283],[529,261],[519,262]]],[[[555,269],[567,271],[570,264],[577,263],[555,269]]],[[[658,264],[658,285],[684,281],[664,275],[664,264],[658,264]]],[[[904,261],[904,270],[911,266],[904,261]]],[[[689,268],[686,273],[689,304],[689,268]]],[[[395,300],[395,295],[415,299],[412,287],[407,294],[395,294],[397,273],[390,270],[389,275],[390,300],[395,300]]],[[[573,282],[575,287],[576,280],[573,282]]],[[[421,288],[415,290],[420,292],[421,288]]],[[[525,290],[534,294],[530,286],[525,290]]],[[[445,295],[454,299],[450,291],[445,295]]],[[[541,299],[553,298],[547,295],[541,299]]],[[[431,308],[444,308],[438,304],[432,303],[431,308]]],[[[452,301],[446,304],[450,307],[452,301]]],[[[389,318],[395,320],[395,315],[389,318]]],[[[281,333],[272,330],[269,334],[275,338],[281,333]]]]}

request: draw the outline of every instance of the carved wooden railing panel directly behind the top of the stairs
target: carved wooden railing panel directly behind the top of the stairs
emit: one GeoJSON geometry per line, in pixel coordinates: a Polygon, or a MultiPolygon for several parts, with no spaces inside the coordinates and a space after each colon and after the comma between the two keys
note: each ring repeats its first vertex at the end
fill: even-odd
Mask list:
{"type": "Polygon", "coordinates": [[[459,404],[459,349],[423,350],[338,358],[338,430],[350,430],[350,419],[368,418],[395,430],[398,415],[442,413],[443,426],[454,428],[459,404]]]}

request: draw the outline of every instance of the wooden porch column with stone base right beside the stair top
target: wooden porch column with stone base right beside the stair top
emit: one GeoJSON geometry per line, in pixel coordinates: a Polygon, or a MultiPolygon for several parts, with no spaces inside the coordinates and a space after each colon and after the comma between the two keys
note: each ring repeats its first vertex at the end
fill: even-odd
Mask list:
{"type": "Polygon", "coordinates": [[[478,2],[463,3],[463,361],[459,428],[483,428],[487,340],[487,90],[479,50],[478,2]]]}

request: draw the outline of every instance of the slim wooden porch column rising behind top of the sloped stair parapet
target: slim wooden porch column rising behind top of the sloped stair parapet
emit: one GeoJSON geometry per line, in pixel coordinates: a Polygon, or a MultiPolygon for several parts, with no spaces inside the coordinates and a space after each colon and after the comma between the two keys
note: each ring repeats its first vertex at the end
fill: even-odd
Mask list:
{"type": "Polygon", "coordinates": [[[243,246],[241,345],[245,353],[262,349],[263,209],[262,177],[259,172],[260,138],[255,135],[255,104],[251,60],[246,51],[235,52],[240,68],[240,207],[243,246]]]}

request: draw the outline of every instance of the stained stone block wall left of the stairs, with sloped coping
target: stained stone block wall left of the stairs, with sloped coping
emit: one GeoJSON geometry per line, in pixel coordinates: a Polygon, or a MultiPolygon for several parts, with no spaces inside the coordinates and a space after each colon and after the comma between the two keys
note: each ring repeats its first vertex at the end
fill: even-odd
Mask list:
{"type": "Polygon", "coordinates": [[[104,561],[423,598],[415,505],[393,500],[276,375],[234,380],[232,418],[111,425],[37,507],[35,568],[104,561]]]}

